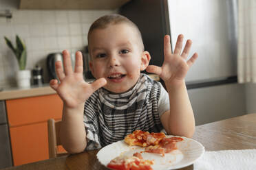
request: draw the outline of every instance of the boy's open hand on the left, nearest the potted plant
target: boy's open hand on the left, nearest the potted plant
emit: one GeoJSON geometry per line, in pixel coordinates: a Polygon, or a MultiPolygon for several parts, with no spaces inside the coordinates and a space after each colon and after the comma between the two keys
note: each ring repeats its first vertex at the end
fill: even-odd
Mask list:
{"type": "Polygon", "coordinates": [[[100,78],[92,84],[88,84],[83,80],[83,56],[80,51],[76,52],[76,63],[73,71],[70,53],[64,50],[63,67],[61,61],[55,63],[56,74],[60,84],[58,84],[58,80],[51,80],[50,86],[56,90],[68,108],[77,108],[84,105],[94,91],[107,84],[104,78],[100,78]]]}

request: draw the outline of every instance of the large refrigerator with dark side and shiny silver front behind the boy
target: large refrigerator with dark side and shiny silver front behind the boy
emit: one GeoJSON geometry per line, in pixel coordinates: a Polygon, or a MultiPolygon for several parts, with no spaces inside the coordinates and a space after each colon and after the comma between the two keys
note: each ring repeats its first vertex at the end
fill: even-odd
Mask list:
{"type": "Polygon", "coordinates": [[[237,84],[237,0],[134,0],[119,13],[138,25],[150,64],[162,65],[165,34],[172,50],[179,34],[193,41],[189,56],[199,57],[185,80],[196,125],[246,112],[244,85],[237,84]]]}

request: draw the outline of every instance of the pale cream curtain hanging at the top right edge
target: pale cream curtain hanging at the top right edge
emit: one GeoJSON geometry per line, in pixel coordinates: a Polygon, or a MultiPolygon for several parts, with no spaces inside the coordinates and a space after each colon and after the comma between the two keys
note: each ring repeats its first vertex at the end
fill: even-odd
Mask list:
{"type": "Polygon", "coordinates": [[[256,83],[256,0],[238,0],[237,79],[256,83]]]}

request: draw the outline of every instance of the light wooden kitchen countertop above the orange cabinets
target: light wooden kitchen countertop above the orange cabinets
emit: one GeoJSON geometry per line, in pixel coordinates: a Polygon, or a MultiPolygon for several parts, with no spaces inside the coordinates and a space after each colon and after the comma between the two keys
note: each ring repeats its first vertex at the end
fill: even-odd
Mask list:
{"type": "Polygon", "coordinates": [[[44,84],[43,86],[31,86],[30,88],[6,88],[0,92],[0,100],[52,94],[56,94],[56,91],[54,91],[49,84],[44,84]]]}

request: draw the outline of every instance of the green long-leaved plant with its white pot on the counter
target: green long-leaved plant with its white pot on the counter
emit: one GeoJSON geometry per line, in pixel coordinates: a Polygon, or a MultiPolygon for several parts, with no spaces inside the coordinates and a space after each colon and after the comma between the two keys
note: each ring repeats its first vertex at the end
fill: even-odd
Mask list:
{"type": "Polygon", "coordinates": [[[30,78],[31,78],[31,73],[30,70],[26,70],[25,66],[27,63],[27,51],[25,44],[19,38],[19,36],[16,36],[16,45],[17,47],[14,47],[12,45],[12,42],[5,36],[4,37],[6,40],[6,44],[10,49],[12,49],[14,55],[17,58],[17,62],[19,64],[19,71],[16,72],[16,80],[17,80],[17,85],[20,88],[27,88],[30,87],[30,78]]]}

